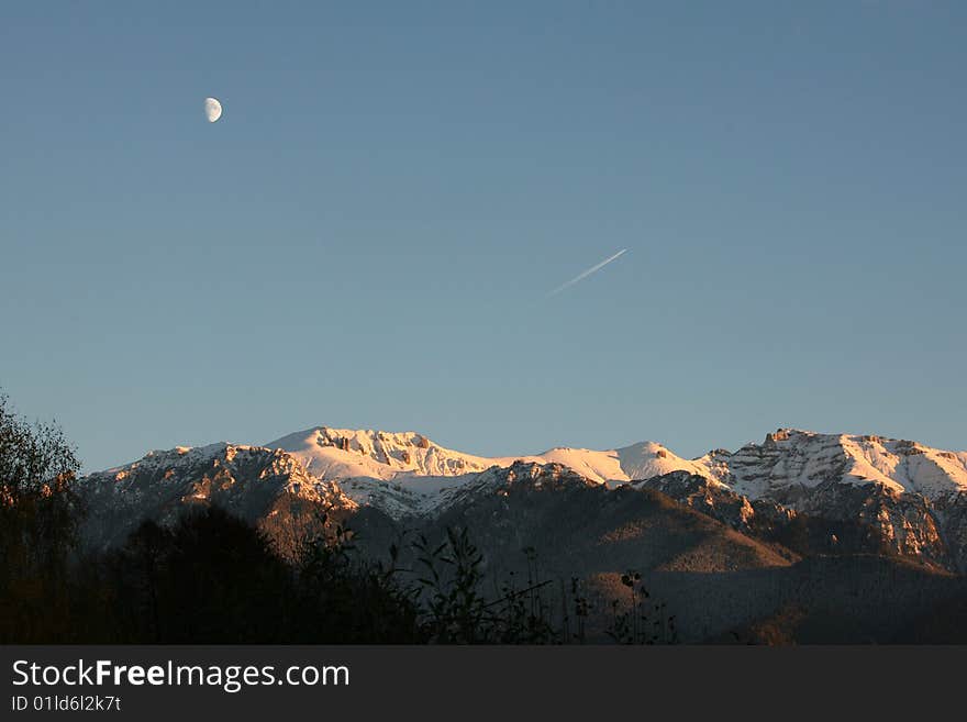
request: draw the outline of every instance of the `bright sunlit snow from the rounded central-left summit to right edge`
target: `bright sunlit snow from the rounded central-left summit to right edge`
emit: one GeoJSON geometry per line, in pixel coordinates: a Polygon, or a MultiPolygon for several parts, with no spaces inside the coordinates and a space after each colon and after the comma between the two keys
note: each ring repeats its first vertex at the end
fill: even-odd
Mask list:
{"type": "MultiPolygon", "coordinates": [[[[326,426],[290,434],[269,446],[293,454],[320,479],[394,480],[414,491],[422,487],[424,495],[457,484],[444,482],[443,477],[466,477],[515,462],[562,464],[609,486],[688,471],[751,499],[790,488],[810,489],[830,480],[876,482],[896,492],[912,491],[930,499],[967,491],[967,453],[944,452],[903,440],[798,429],[779,429],[762,443],[746,444],[736,452],[716,449],[696,459],[677,456],[655,442],[607,451],[555,447],[541,454],[488,458],[445,448],[414,432],[326,426]],[[437,481],[416,481],[425,477],[437,477],[437,481]]],[[[362,484],[357,481],[356,486],[362,484]]]]}

